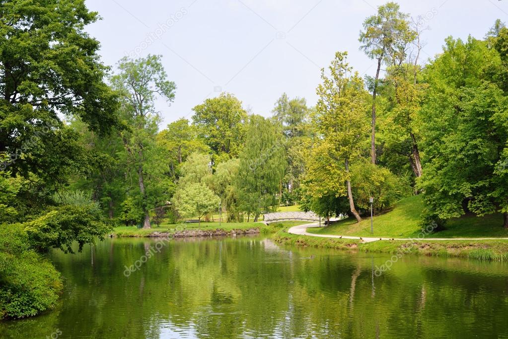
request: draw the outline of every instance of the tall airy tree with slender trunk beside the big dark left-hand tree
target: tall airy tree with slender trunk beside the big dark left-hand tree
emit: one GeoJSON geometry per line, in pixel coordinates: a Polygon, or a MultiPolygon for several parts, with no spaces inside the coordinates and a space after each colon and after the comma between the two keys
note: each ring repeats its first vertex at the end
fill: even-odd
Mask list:
{"type": "Polygon", "coordinates": [[[145,164],[150,152],[156,153],[153,151],[160,121],[155,111],[155,99],[163,97],[169,104],[175,97],[176,85],[167,78],[161,57],[157,55],[135,60],[124,57],[118,63],[118,74],[111,77],[111,85],[122,99],[121,115],[129,126],[122,132],[122,140],[143,197],[143,228],[150,228],[145,164]]]}

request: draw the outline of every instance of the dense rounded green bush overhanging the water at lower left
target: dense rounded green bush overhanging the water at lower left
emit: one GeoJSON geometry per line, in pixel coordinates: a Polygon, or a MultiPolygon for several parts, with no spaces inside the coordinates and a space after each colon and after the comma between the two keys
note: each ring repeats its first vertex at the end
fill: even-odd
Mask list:
{"type": "Polygon", "coordinates": [[[30,249],[23,225],[0,226],[0,319],[50,309],[62,285],[54,266],[30,249]]]}

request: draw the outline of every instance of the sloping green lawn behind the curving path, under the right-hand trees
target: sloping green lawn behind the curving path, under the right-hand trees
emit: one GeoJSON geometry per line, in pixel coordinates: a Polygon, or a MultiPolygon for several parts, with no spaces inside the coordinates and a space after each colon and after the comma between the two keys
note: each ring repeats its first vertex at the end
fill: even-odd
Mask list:
{"type": "MultiPolygon", "coordinates": [[[[370,217],[357,223],[348,218],[329,227],[309,228],[309,233],[379,236],[392,238],[417,238],[420,233],[420,213],[423,209],[421,196],[411,196],[398,201],[391,211],[374,217],[374,233],[370,233],[370,217]]],[[[435,232],[432,238],[490,238],[506,237],[508,230],[502,227],[502,215],[492,214],[485,217],[464,216],[449,220],[446,229],[435,232]]]]}

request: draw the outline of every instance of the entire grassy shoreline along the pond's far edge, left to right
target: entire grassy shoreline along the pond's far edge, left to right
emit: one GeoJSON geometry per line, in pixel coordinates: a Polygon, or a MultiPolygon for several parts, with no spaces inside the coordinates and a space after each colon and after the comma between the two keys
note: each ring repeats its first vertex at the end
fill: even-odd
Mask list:
{"type": "Polygon", "coordinates": [[[302,224],[293,227],[275,228],[270,226],[248,228],[197,228],[183,230],[138,230],[129,232],[113,231],[111,238],[214,238],[221,236],[237,236],[249,234],[266,234],[281,245],[302,247],[330,248],[343,251],[364,251],[373,253],[388,253],[401,255],[425,255],[439,257],[458,257],[486,261],[508,261],[508,240],[506,239],[394,239],[383,238],[382,241],[356,236],[326,236],[307,233],[306,228],[312,224],[302,224]],[[293,228],[293,231],[291,230],[293,228]],[[294,230],[297,232],[294,232],[294,230]]]}

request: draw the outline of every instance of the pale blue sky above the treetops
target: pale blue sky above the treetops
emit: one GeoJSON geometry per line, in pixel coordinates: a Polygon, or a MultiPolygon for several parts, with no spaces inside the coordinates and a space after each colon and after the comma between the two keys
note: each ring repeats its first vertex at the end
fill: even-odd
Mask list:
{"type": "MultiPolygon", "coordinates": [[[[348,51],[361,74],[374,62],[359,51],[365,17],[386,1],[374,0],[87,0],[103,20],[87,27],[108,65],[131,54],[163,55],[178,87],[174,103],[157,102],[161,127],[218,91],[235,94],[252,113],[269,116],[275,100],[316,101],[320,68],[336,51],[348,51]]],[[[439,53],[444,38],[483,38],[495,19],[508,21],[508,1],[399,1],[412,17],[425,17],[423,58],[439,53]]]]}

